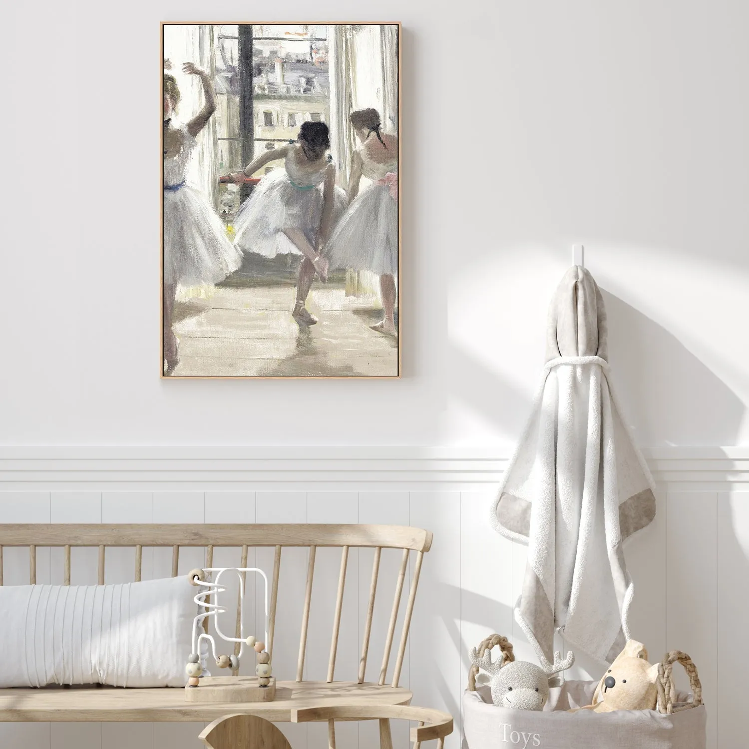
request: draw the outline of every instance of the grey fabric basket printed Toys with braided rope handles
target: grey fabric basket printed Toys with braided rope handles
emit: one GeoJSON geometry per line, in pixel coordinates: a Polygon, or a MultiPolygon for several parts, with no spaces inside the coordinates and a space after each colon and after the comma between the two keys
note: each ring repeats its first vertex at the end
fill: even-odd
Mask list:
{"type": "MultiPolygon", "coordinates": [[[[512,645],[495,636],[481,644],[479,652],[499,645],[506,659],[513,661],[512,645]],[[493,644],[492,644],[493,643],[493,644]]],[[[541,712],[512,710],[491,701],[487,685],[476,683],[471,667],[463,698],[464,732],[467,749],[705,749],[707,713],[702,687],[691,658],[673,650],[658,668],[658,709],[592,710],[567,712],[589,705],[598,682],[567,681],[550,688],[549,700],[541,712]],[[691,694],[676,691],[673,664],[685,668],[691,694]]]]}

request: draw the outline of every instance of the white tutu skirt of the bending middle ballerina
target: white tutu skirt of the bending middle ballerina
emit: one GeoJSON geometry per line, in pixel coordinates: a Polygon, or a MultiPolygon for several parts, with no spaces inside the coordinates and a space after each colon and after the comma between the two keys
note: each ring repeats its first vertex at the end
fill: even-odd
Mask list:
{"type": "MultiPolygon", "coordinates": [[[[300,185],[291,181],[286,169],[273,169],[252,190],[234,219],[234,243],[244,252],[257,252],[266,258],[293,252],[300,255],[283,233],[288,229],[304,232],[315,246],[323,210],[324,172],[318,184],[300,185]]],[[[336,187],[333,195],[333,224],[343,213],[346,193],[336,187]]]]}

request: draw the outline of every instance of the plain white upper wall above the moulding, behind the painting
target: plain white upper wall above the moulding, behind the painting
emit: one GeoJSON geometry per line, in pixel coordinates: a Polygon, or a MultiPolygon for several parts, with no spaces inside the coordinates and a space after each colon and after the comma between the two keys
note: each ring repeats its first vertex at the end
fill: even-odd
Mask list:
{"type": "Polygon", "coordinates": [[[163,382],[158,22],[206,7],[4,4],[0,443],[509,445],[574,242],[640,440],[748,440],[746,3],[320,0],[404,23],[404,377],[163,382]]]}

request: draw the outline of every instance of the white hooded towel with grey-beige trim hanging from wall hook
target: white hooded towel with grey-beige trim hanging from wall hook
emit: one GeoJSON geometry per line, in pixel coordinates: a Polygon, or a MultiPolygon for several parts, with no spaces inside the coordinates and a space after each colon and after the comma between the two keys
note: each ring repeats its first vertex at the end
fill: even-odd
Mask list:
{"type": "Polygon", "coordinates": [[[610,663],[630,639],[634,586],[622,542],[655,517],[653,482],[608,379],[601,291],[582,267],[551,303],[542,386],[491,513],[527,543],[515,618],[554,658],[554,631],[610,663]]]}

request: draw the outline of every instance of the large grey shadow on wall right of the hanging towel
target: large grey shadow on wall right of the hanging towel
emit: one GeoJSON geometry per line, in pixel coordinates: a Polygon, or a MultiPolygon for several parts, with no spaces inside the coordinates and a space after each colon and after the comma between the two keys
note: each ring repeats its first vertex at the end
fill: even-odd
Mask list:
{"type": "Polygon", "coordinates": [[[744,404],[664,327],[601,289],[612,379],[637,443],[732,445],[744,404]]]}

